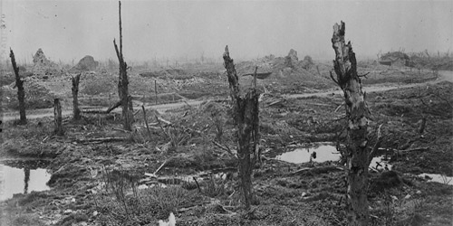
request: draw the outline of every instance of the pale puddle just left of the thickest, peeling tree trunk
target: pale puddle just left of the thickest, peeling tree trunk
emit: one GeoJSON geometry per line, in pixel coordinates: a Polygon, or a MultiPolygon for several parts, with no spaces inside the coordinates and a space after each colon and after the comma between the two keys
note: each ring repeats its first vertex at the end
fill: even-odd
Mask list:
{"type": "Polygon", "coordinates": [[[293,164],[308,163],[313,152],[316,153],[316,157],[313,157],[313,162],[322,163],[325,161],[338,161],[340,159],[340,153],[337,152],[335,146],[325,143],[316,144],[315,146],[298,147],[294,151],[277,155],[275,159],[293,164]]]}

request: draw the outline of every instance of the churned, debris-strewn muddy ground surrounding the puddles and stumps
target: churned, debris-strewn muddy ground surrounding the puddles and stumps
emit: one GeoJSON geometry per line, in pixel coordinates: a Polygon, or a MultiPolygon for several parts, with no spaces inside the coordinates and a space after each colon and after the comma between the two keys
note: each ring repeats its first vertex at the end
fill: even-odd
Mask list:
{"type": "MultiPolygon", "coordinates": [[[[47,169],[52,177],[47,184],[52,189],[0,202],[1,225],[157,225],[169,212],[175,213],[177,225],[347,225],[344,165],[275,159],[297,146],[344,139],[342,95],[327,80],[323,67],[318,67],[320,77],[310,83],[324,80],[323,85],[307,85],[306,78],[295,80],[293,75],[291,82],[260,80],[263,91],[268,91],[260,103],[263,160],[254,171],[253,212],[244,212],[236,185],[236,158],[226,151],[234,154],[236,144],[225,100],[226,76],[219,72],[220,66],[181,75],[181,82],[165,80],[161,88],[165,92],[207,100],[165,114],[147,110],[149,130],[140,108],[135,108],[139,111],[133,132],[120,129],[117,113],[85,115],[79,121],[67,117],[64,137],[53,136],[53,118],[32,119],[25,126],[7,122],[2,158],[51,159],[47,169]],[[286,96],[294,92],[324,94],[286,96]]],[[[143,87],[135,89],[140,90],[137,95],[148,89],[140,84],[153,84],[149,76],[155,75],[147,76],[131,75],[140,78],[131,85],[143,87]]],[[[365,86],[401,87],[367,93],[371,144],[381,126],[379,154],[387,155],[393,165],[391,171],[370,171],[372,225],[451,225],[452,186],[417,175],[453,176],[453,83],[433,82],[439,76],[432,72],[399,69],[373,69],[368,77],[363,80],[365,86]],[[420,133],[423,118],[426,128],[420,133]]],[[[107,75],[87,80],[106,78],[115,80],[107,75]]],[[[250,78],[241,80],[250,84],[250,78]]],[[[39,83],[51,91],[56,87],[46,82],[39,83]]],[[[108,97],[103,87],[84,84],[87,96],[108,97]],[[95,90],[101,93],[90,93],[95,90]]],[[[55,92],[67,97],[66,91],[55,92]]]]}

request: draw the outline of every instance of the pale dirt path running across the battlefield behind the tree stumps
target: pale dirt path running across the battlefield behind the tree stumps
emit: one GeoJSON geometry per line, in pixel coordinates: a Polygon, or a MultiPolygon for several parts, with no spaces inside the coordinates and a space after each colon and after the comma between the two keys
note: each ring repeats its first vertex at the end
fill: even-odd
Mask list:
{"type": "MultiPolygon", "coordinates": [[[[417,87],[417,86],[422,86],[422,85],[427,85],[427,84],[436,84],[436,83],[439,83],[440,81],[444,81],[444,80],[453,82],[453,71],[439,71],[439,78],[437,80],[431,80],[431,81],[424,82],[424,83],[406,84],[406,85],[393,84],[393,85],[387,86],[387,87],[372,86],[372,87],[364,87],[363,89],[368,93],[382,92],[382,91],[387,91],[387,90],[391,90],[391,89],[410,88],[410,87],[417,87]]],[[[335,94],[335,95],[342,94],[342,90],[333,90],[333,91],[317,92],[317,93],[289,94],[289,95],[284,95],[284,98],[295,99],[295,98],[308,98],[308,97],[313,97],[313,96],[323,97],[323,96],[328,96],[328,95],[333,95],[333,94],[335,94]]],[[[154,108],[154,109],[158,110],[159,113],[164,114],[165,111],[172,109],[172,108],[180,108],[185,105],[198,106],[202,102],[203,102],[202,100],[190,100],[187,102],[149,105],[149,106],[146,106],[145,108],[147,108],[147,109],[154,108]]],[[[120,108],[117,108],[113,111],[120,112],[120,108]]],[[[69,116],[72,114],[72,109],[63,110],[62,114],[63,114],[63,116],[69,116]]],[[[46,117],[53,117],[53,108],[36,110],[31,114],[27,114],[27,118],[29,118],[29,119],[46,118],[46,117]]],[[[4,122],[11,121],[11,120],[18,119],[18,118],[19,117],[18,117],[17,112],[8,113],[8,114],[3,115],[4,122]]]]}

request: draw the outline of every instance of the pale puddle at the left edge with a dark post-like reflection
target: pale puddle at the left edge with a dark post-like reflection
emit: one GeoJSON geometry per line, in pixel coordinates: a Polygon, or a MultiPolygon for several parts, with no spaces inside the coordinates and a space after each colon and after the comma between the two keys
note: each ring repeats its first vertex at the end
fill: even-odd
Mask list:
{"type": "Polygon", "coordinates": [[[10,166],[0,164],[0,201],[13,197],[14,193],[30,193],[49,190],[46,183],[51,174],[36,165],[26,163],[10,166]],[[18,166],[18,167],[12,167],[18,166]]]}

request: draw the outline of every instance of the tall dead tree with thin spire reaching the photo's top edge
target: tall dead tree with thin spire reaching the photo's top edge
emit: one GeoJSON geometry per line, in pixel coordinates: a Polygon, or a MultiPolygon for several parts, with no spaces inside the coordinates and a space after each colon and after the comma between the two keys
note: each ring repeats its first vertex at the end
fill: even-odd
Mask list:
{"type": "Polygon", "coordinates": [[[131,130],[133,114],[132,114],[132,99],[129,96],[129,80],[128,80],[128,64],[124,61],[122,55],[122,27],[121,27],[121,1],[118,1],[118,8],[120,14],[120,49],[113,39],[113,45],[115,46],[115,52],[120,61],[120,78],[118,80],[118,95],[120,96],[122,106],[122,126],[125,130],[131,130]]]}

